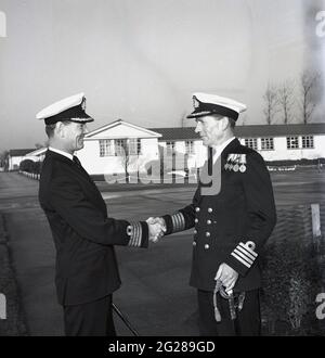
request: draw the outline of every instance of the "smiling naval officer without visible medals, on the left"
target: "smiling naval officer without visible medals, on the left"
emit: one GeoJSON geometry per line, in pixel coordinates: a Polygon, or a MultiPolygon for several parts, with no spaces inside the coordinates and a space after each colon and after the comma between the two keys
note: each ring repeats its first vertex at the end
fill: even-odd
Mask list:
{"type": "Polygon", "coordinates": [[[55,284],[66,335],[116,335],[112,294],[120,284],[114,245],[147,247],[157,227],[108,217],[96,186],[74,153],[83,148],[86,98],[79,93],[37,114],[49,150],[39,202],[56,248],[55,284]]]}

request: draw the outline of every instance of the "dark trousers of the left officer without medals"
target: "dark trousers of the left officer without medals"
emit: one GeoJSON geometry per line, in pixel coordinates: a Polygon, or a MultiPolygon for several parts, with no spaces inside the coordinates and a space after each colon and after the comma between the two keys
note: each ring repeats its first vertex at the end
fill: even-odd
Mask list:
{"type": "Polygon", "coordinates": [[[67,336],[116,336],[112,295],[81,305],[64,306],[67,336]]]}

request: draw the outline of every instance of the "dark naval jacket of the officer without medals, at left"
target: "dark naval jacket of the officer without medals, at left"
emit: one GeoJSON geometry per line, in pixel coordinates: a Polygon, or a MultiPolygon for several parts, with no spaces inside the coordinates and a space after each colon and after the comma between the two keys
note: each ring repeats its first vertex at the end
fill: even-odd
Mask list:
{"type": "Polygon", "coordinates": [[[64,155],[48,151],[39,202],[56,247],[58,303],[78,305],[120,286],[114,245],[146,247],[146,222],[115,220],[87,171],[64,155]]]}

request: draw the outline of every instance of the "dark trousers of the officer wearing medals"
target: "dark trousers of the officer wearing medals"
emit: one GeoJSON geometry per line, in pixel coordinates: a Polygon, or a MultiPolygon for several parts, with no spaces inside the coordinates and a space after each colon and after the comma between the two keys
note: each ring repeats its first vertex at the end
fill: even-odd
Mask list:
{"type": "Polygon", "coordinates": [[[199,334],[203,336],[256,336],[261,331],[260,297],[259,290],[245,293],[242,310],[236,309],[236,319],[231,319],[229,301],[217,294],[217,306],[221,315],[221,321],[214,318],[213,293],[197,291],[199,310],[199,334]]]}

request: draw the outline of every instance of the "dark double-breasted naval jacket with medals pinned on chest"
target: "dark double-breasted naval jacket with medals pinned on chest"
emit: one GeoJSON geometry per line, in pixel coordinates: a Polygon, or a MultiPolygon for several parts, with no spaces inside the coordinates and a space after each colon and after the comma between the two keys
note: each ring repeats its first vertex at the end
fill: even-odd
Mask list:
{"type": "Polygon", "coordinates": [[[239,274],[234,292],[261,286],[259,255],[276,213],[259,153],[231,141],[214,165],[211,156],[205,164],[192,204],[164,219],[166,234],[195,229],[191,285],[213,291],[218,268],[225,263],[239,274]]]}

